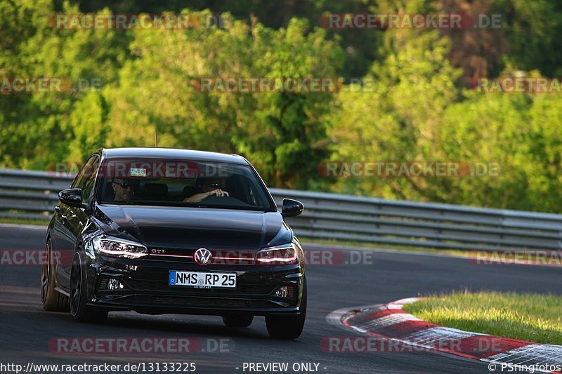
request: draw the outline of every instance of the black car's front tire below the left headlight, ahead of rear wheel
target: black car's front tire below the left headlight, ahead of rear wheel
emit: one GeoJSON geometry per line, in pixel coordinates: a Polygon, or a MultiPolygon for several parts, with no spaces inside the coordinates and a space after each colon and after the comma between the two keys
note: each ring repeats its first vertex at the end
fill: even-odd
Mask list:
{"type": "Polygon", "coordinates": [[[100,323],[107,319],[107,310],[86,305],[88,302],[86,265],[79,252],[74,253],[70,271],[70,313],[74,320],[100,323]]]}

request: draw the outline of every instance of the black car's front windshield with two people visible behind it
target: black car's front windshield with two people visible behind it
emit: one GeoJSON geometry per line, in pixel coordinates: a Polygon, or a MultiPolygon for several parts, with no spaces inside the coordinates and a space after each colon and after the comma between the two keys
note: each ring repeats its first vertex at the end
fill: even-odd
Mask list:
{"type": "Polygon", "coordinates": [[[258,175],[247,165],[110,159],[102,164],[98,179],[100,203],[276,210],[258,175]]]}

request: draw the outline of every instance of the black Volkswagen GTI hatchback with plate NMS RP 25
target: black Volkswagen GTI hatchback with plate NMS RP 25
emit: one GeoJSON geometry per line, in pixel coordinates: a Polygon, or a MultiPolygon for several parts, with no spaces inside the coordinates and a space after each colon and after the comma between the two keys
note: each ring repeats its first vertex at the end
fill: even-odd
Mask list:
{"type": "Polygon", "coordinates": [[[242,156],[165,148],[100,149],[48,226],[41,301],[84,322],[107,313],[211,314],[226,326],[265,316],[274,338],[301,335],[303,249],[242,156]],[[63,253],[55,261],[55,253],[63,253]]]}

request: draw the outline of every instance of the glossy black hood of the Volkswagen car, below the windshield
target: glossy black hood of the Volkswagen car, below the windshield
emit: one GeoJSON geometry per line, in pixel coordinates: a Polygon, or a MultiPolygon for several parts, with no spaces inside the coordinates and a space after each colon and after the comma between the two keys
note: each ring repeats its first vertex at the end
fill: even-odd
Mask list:
{"type": "Polygon", "coordinates": [[[278,212],[98,205],[94,218],[107,234],[148,247],[258,250],[292,240],[278,212]]]}

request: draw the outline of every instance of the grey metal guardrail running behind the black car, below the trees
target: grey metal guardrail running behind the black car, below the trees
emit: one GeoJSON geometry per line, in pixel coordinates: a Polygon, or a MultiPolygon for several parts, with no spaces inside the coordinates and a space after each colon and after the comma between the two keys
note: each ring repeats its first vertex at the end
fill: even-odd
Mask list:
{"type": "MultiPolygon", "coordinates": [[[[0,170],[0,217],[48,220],[72,176],[0,170]]],[[[287,219],[304,238],[455,249],[562,248],[562,215],[270,189],[302,201],[287,219]]]]}

